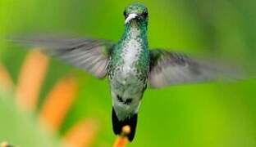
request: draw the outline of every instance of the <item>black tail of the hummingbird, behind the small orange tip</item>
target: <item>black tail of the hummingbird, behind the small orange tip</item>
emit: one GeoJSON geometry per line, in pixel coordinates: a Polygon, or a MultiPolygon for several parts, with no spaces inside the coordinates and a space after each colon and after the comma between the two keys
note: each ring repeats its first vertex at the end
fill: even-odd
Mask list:
{"type": "Polygon", "coordinates": [[[122,127],[129,125],[130,126],[130,134],[128,135],[128,139],[130,141],[132,141],[135,137],[137,118],[138,118],[138,114],[134,114],[130,118],[126,118],[124,120],[119,120],[117,118],[115,109],[112,108],[112,128],[113,128],[114,133],[116,135],[121,135],[122,127]]]}

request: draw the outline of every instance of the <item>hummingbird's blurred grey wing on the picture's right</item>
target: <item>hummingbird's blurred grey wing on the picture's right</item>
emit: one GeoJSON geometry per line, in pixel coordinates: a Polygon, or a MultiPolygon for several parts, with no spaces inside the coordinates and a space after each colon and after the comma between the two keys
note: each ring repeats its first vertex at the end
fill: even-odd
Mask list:
{"type": "Polygon", "coordinates": [[[233,72],[218,65],[192,60],[181,53],[159,49],[150,51],[149,84],[154,88],[210,81],[224,74],[233,72]]]}

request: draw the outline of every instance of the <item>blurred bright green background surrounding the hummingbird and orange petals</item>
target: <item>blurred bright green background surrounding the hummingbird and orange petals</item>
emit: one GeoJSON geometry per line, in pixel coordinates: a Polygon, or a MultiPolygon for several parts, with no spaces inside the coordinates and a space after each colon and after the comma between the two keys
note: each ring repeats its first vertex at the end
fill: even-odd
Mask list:
{"type": "MultiPolygon", "coordinates": [[[[123,32],[122,11],[130,2],[133,1],[0,0],[0,38],[30,33],[75,33],[117,41],[123,32]]],[[[176,48],[176,51],[199,54],[207,52],[255,69],[256,1],[140,2],[149,8],[150,47],[176,48]]],[[[20,48],[0,42],[0,60],[14,82],[26,52],[20,48]]],[[[51,60],[38,109],[54,83],[66,73],[75,74],[80,87],[59,135],[65,134],[82,118],[98,118],[101,125],[94,146],[111,146],[115,136],[107,80],[100,81],[89,73],[51,60]]],[[[256,146],[255,86],[255,79],[250,79],[149,89],[139,111],[135,140],[129,146],[256,146]]],[[[3,101],[0,103],[1,116],[9,116],[10,121],[23,120],[16,114],[11,117],[12,112],[5,111],[2,106],[5,106],[3,101]]],[[[30,122],[21,125],[30,125],[30,122]]],[[[13,132],[10,136],[15,145],[16,140],[30,138],[24,139],[14,126],[1,121],[0,141],[6,140],[2,133],[7,132],[6,129],[13,132]]],[[[34,143],[39,145],[36,140],[34,143]]]]}

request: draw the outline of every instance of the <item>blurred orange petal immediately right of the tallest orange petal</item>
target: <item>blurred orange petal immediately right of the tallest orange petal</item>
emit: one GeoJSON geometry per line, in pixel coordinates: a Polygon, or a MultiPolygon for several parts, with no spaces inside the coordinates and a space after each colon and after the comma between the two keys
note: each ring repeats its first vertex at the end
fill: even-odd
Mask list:
{"type": "Polygon", "coordinates": [[[57,82],[43,103],[39,114],[41,122],[46,122],[53,130],[57,130],[75,100],[77,87],[75,79],[71,77],[57,82]]]}

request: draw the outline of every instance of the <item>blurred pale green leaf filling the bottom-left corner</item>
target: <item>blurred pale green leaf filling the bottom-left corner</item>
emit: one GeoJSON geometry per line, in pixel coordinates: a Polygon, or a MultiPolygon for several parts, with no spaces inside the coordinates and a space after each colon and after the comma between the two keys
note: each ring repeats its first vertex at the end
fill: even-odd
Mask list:
{"type": "Polygon", "coordinates": [[[34,115],[21,112],[14,105],[13,96],[1,91],[0,94],[0,138],[14,146],[57,147],[56,136],[49,136],[34,120],[34,115]]]}

